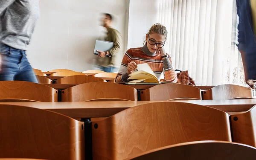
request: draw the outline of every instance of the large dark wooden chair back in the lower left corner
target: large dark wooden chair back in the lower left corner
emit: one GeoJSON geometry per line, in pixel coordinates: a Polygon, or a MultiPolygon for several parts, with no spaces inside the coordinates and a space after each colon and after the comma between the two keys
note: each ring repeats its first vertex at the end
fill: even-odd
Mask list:
{"type": "Polygon", "coordinates": [[[0,105],[0,157],[84,160],[84,122],[52,111],[0,105]]]}

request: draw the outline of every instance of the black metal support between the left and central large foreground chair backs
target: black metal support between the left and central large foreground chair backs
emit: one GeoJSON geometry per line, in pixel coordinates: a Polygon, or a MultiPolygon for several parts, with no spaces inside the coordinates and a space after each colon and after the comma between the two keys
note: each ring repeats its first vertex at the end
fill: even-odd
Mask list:
{"type": "Polygon", "coordinates": [[[85,160],[93,159],[93,142],[92,142],[92,122],[90,118],[82,118],[84,122],[84,144],[85,144],[85,160]]]}

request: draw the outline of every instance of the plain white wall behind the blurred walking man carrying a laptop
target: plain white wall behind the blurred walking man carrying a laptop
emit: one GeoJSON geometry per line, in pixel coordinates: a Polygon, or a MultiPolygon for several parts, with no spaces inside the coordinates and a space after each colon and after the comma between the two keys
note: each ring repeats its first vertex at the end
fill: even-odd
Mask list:
{"type": "Polygon", "coordinates": [[[27,51],[32,67],[44,71],[93,69],[95,40],[104,34],[99,26],[100,13],[114,15],[112,26],[122,34],[125,44],[127,7],[127,0],[41,0],[41,15],[27,51]]]}

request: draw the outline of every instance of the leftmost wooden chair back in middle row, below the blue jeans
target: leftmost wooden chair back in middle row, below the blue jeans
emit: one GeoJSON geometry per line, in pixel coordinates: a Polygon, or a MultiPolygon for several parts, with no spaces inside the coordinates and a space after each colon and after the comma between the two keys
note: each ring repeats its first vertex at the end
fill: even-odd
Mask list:
{"type": "Polygon", "coordinates": [[[0,99],[58,102],[58,90],[28,81],[0,81],[0,99]]]}

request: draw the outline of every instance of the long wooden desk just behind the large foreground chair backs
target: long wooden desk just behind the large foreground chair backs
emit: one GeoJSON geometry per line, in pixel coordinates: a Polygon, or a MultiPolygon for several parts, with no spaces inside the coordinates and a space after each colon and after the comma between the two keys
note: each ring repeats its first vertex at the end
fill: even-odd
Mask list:
{"type": "MultiPolygon", "coordinates": [[[[0,104],[22,105],[46,109],[72,118],[108,117],[127,108],[152,102],[163,101],[118,101],[118,102],[1,102],[0,104]]],[[[256,105],[256,99],[233,100],[184,100],[198,105],[206,105],[225,112],[244,112],[256,105]]]]}

